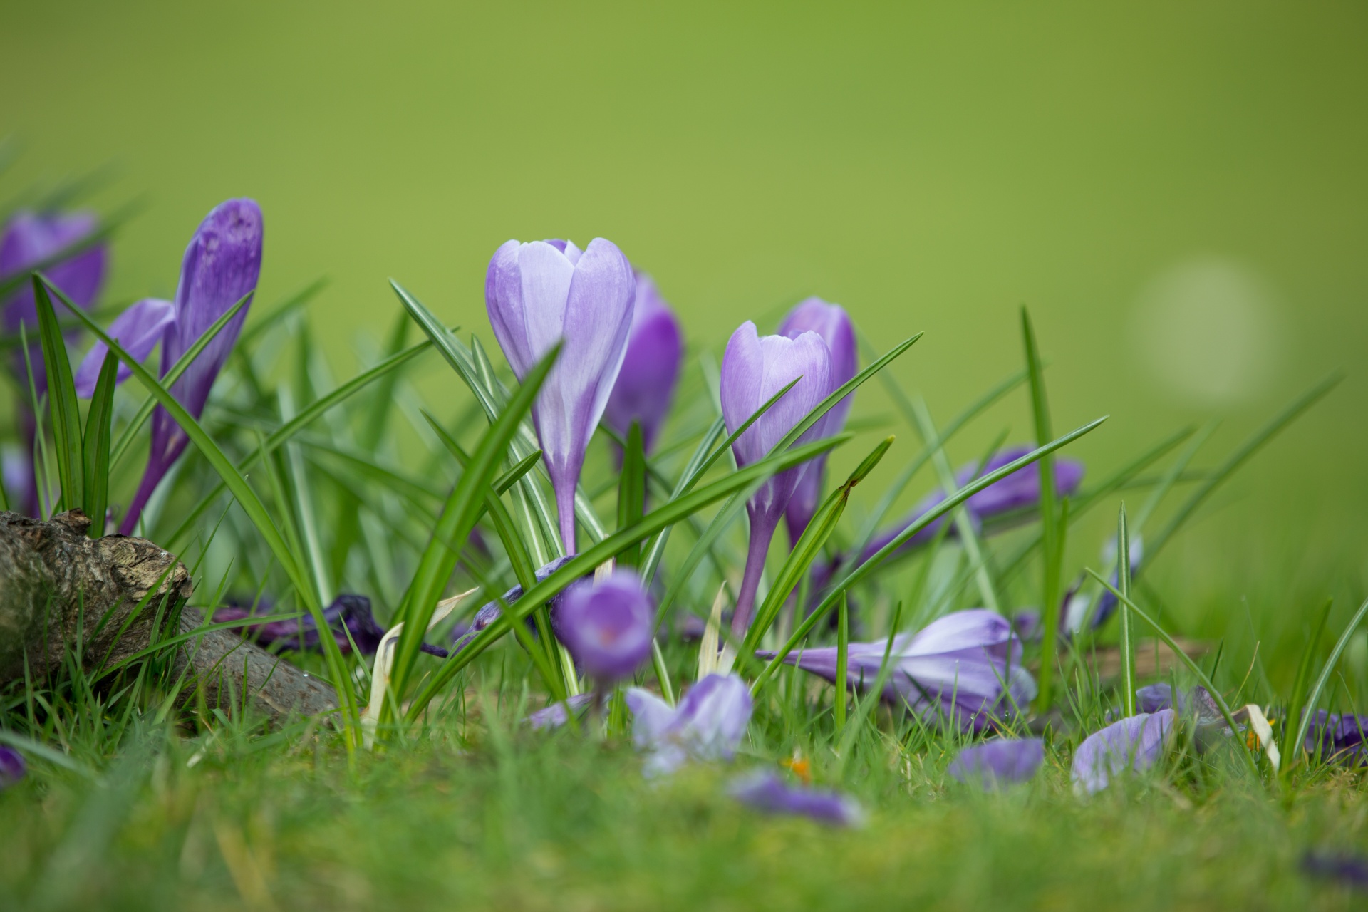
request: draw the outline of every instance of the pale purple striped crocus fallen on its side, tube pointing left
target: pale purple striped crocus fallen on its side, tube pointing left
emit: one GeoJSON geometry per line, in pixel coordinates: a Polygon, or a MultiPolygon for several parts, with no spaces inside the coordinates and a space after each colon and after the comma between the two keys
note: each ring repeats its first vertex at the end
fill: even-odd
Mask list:
{"type": "MultiPolygon", "coordinates": [[[[851,643],[845,682],[866,690],[878,678],[886,641],[851,643]]],[[[774,652],[757,652],[773,659],[774,652]]],[[[787,665],[836,682],[837,647],[791,652],[787,665]]],[[[955,611],[918,633],[893,637],[882,699],[914,712],[941,716],[964,729],[992,726],[995,714],[1012,711],[1036,696],[1022,667],[1022,643],[1007,618],[986,608],[955,611]]]]}

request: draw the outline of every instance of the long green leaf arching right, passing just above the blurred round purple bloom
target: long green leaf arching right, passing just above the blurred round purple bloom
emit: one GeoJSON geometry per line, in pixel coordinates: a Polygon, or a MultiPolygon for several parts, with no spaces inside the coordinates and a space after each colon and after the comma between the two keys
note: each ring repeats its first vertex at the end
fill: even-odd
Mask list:
{"type": "Polygon", "coordinates": [[[784,469],[791,469],[795,465],[802,465],[803,462],[807,462],[808,459],[845,443],[848,439],[850,435],[836,435],[752,462],[744,469],[731,473],[725,479],[720,479],[684,495],[683,498],[661,505],[642,517],[642,521],[633,528],[616,532],[607,539],[586,548],[581,554],[576,554],[566,561],[560,570],[524,592],[523,598],[510,606],[509,611],[503,613],[498,621],[491,623],[479,636],[471,640],[465,648],[447,659],[438,669],[438,671],[424,682],[417,695],[413,697],[413,703],[410,704],[408,712],[409,719],[417,719],[423,714],[428,701],[431,701],[440,692],[440,689],[446,686],[447,681],[450,681],[466,665],[473,662],[482,652],[484,652],[484,649],[497,643],[499,637],[508,633],[509,623],[520,622],[534,610],[535,606],[550,602],[551,598],[565,589],[565,587],[570,585],[586,573],[594,570],[598,565],[614,556],[621,550],[636,544],[637,541],[643,541],[659,529],[663,529],[674,522],[680,522],[684,517],[694,514],[717,500],[728,498],[737,491],[743,491],[751,485],[763,484],[763,481],[770,476],[782,472],[784,469]]]}

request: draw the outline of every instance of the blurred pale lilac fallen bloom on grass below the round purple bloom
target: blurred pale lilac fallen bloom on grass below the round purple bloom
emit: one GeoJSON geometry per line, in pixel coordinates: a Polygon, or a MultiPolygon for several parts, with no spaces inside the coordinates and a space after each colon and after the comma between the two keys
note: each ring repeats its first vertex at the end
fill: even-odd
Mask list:
{"type": "Polygon", "coordinates": [[[647,775],[673,773],[687,760],[731,760],[755,704],[746,681],[735,674],[710,674],[672,707],[650,690],[631,688],[632,741],[650,752],[647,775]]]}

